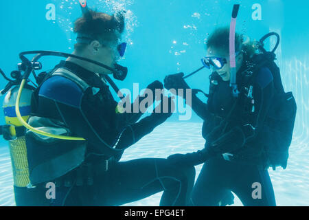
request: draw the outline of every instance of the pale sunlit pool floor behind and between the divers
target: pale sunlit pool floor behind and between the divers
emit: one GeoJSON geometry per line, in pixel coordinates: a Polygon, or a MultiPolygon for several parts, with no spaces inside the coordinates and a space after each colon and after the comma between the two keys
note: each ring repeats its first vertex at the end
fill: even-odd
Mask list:
{"type": "MultiPolygon", "coordinates": [[[[128,148],[122,161],[142,157],[165,158],[173,153],[190,153],[203,148],[201,123],[165,123],[128,148]],[[159,140],[159,141],[158,141],[159,140]]],[[[277,206],[309,206],[308,142],[294,137],[286,170],[269,169],[277,206]]],[[[202,165],[196,166],[196,177],[202,165]]],[[[124,206],[159,206],[162,192],[124,206]]],[[[233,206],[242,206],[236,197],[233,206]]],[[[0,206],[15,206],[12,167],[8,146],[0,147],[0,206]]]]}

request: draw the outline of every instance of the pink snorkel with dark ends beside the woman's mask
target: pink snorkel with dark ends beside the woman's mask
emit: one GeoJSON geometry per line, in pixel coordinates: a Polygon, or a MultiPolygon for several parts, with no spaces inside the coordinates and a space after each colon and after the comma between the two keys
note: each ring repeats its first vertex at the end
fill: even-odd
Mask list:
{"type": "Polygon", "coordinates": [[[235,30],[236,30],[236,19],[239,7],[240,5],[233,6],[231,24],[229,27],[229,65],[231,66],[231,80],[229,85],[232,88],[234,97],[238,97],[239,94],[236,84],[236,56],[235,56],[235,30]]]}

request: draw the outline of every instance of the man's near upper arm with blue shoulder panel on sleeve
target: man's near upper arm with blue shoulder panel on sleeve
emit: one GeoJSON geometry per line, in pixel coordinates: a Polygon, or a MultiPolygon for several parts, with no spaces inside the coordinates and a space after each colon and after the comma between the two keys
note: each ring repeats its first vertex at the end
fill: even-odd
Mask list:
{"type": "MultiPolygon", "coordinates": [[[[95,153],[110,156],[119,152],[113,148],[119,123],[114,121],[115,108],[103,113],[100,103],[91,88],[82,91],[76,83],[62,76],[47,79],[38,93],[40,115],[61,120],[71,135],[83,137],[95,153]]],[[[108,107],[111,108],[106,103],[108,107]]]]}

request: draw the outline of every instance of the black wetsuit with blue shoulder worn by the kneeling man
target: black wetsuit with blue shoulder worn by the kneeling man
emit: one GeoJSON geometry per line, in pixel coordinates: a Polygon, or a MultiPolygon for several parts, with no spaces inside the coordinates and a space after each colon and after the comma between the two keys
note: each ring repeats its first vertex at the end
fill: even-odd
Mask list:
{"type": "MultiPolygon", "coordinates": [[[[152,114],[137,122],[141,113],[116,113],[117,102],[97,74],[64,61],[56,66],[58,68],[68,69],[91,87],[82,92],[72,80],[51,76],[45,79],[38,98],[34,99],[37,102],[35,115],[60,120],[72,136],[87,140],[86,159],[80,166],[86,167],[82,169],[86,171],[81,171],[84,177],[80,179],[80,173],[75,170],[60,177],[60,185],[56,188],[58,199],[46,199],[47,189],[39,184],[30,189],[35,192],[35,198],[28,197],[27,201],[21,198],[23,202],[19,204],[119,206],[164,190],[161,206],[185,206],[194,184],[193,166],[183,169],[169,164],[167,159],[152,158],[119,162],[125,148],[150,133],[167,117],[152,114]],[[106,159],[111,158],[106,171],[106,159]],[[76,184],[81,179],[83,184],[76,184]],[[71,182],[65,184],[67,180],[71,182]]],[[[34,155],[28,155],[28,160],[32,157],[34,155]]],[[[33,162],[29,162],[31,166],[33,162]]]]}

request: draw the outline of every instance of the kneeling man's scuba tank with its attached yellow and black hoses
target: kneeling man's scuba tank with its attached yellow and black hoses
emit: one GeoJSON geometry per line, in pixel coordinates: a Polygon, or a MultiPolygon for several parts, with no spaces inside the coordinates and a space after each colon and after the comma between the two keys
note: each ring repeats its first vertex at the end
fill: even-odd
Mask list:
{"type": "MultiPolygon", "coordinates": [[[[102,63],[92,61],[87,58],[82,58],[75,56],[73,54],[65,54],[61,52],[50,52],[50,51],[34,51],[34,52],[22,52],[20,55],[22,63],[18,65],[18,70],[13,71],[11,76],[13,79],[5,76],[3,71],[0,69],[0,74],[8,80],[8,85],[5,86],[5,89],[0,91],[1,95],[6,94],[3,101],[3,111],[5,115],[5,125],[0,126],[0,135],[3,135],[3,138],[9,142],[10,145],[10,155],[12,160],[12,170],[14,175],[14,186],[17,187],[27,187],[31,186],[30,184],[30,171],[27,160],[27,148],[25,143],[25,131],[29,129],[34,133],[38,133],[47,137],[54,137],[56,139],[62,140],[84,140],[82,137],[70,137],[67,135],[57,135],[53,133],[47,133],[45,131],[38,130],[29,124],[27,124],[28,118],[30,118],[31,109],[31,100],[32,94],[36,87],[28,85],[30,82],[29,76],[33,74],[36,83],[40,85],[41,78],[44,78],[44,73],[36,76],[35,71],[42,69],[41,63],[38,62],[38,59],[43,56],[59,56],[59,57],[73,57],[78,58],[82,61],[88,61],[95,65],[99,65],[106,69],[110,69],[114,75],[118,76],[123,73],[126,76],[126,69],[113,69],[102,63]],[[36,54],[32,61],[29,61],[25,55],[36,54]],[[23,73],[23,74],[22,74],[23,73]]],[[[123,80],[125,77],[122,77],[123,80]]],[[[116,93],[119,94],[119,89],[113,80],[106,76],[106,80],[110,85],[115,89],[116,93]]]]}

